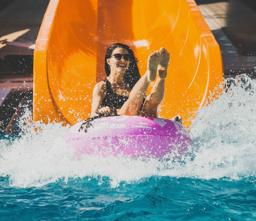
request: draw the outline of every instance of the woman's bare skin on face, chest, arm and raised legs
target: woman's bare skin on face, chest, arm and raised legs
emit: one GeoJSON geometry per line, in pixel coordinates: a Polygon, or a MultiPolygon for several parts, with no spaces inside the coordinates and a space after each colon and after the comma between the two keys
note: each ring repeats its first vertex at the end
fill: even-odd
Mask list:
{"type": "MultiPolygon", "coordinates": [[[[128,54],[127,50],[123,48],[116,48],[113,50],[112,55],[128,54]]],[[[129,91],[129,86],[125,84],[124,73],[129,65],[129,61],[121,60],[117,61],[114,57],[107,60],[110,65],[111,73],[107,78],[110,81],[112,90],[116,94],[122,96],[129,96],[129,99],[124,103],[121,109],[117,109],[117,114],[119,115],[140,115],[157,117],[158,105],[164,98],[164,88],[165,88],[165,78],[167,76],[167,69],[169,66],[170,54],[169,52],[161,47],[159,51],[154,51],[149,55],[148,58],[148,70],[145,75],[140,78],[140,80],[135,84],[131,91],[129,91]],[[157,77],[157,79],[156,79],[157,77]],[[147,96],[143,110],[140,111],[142,101],[146,95],[149,84],[151,81],[156,82],[149,96],[147,96]]],[[[100,107],[103,98],[106,95],[106,83],[104,81],[96,84],[93,90],[93,102],[92,102],[92,112],[91,116],[95,116],[98,113],[110,114],[110,107],[100,107]]],[[[181,120],[180,116],[179,119],[181,120]]]]}

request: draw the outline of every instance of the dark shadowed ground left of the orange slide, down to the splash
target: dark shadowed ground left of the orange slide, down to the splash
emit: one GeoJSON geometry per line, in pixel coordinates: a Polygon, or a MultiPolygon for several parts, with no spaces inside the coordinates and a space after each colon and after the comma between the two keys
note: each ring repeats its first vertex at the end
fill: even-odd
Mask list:
{"type": "MultiPolygon", "coordinates": [[[[35,44],[49,0],[11,0],[0,7],[0,41],[35,44]]],[[[16,115],[32,110],[33,54],[28,47],[0,44],[0,133],[14,126],[16,115]],[[30,99],[26,99],[26,97],[30,99]]]]}

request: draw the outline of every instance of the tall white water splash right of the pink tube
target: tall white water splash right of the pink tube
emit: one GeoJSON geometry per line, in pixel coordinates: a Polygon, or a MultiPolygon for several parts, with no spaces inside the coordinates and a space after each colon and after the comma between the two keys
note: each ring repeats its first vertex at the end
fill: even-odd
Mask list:
{"type": "Polygon", "coordinates": [[[236,85],[223,90],[219,99],[204,106],[193,120],[190,132],[196,151],[187,165],[193,168],[190,176],[255,176],[256,81],[242,80],[233,79],[236,85]]]}

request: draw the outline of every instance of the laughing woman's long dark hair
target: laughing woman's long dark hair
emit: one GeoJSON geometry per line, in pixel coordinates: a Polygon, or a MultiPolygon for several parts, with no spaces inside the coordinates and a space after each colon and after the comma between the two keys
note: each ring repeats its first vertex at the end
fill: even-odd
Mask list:
{"type": "Polygon", "coordinates": [[[140,79],[140,72],[139,72],[139,68],[137,65],[137,60],[134,56],[134,52],[131,50],[131,48],[129,46],[121,44],[121,43],[116,43],[116,44],[111,45],[107,49],[106,56],[105,56],[106,74],[107,74],[107,76],[110,75],[110,66],[107,63],[107,59],[111,57],[113,50],[116,49],[117,47],[126,49],[128,51],[128,53],[131,55],[130,64],[125,71],[124,78],[125,78],[125,83],[128,84],[129,87],[132,89],[132,87],[134,87],[136,82],[140,79]]]}

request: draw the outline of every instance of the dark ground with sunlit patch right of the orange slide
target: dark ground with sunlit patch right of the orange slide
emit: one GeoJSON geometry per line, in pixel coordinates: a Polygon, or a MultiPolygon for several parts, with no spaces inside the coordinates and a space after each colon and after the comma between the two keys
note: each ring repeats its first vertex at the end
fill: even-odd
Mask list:
{"type": "Polygon", "coordinates": [[[256,77],[256,7],[252,1],[196,0],[222,53],[224,76],[256,77]]]}

